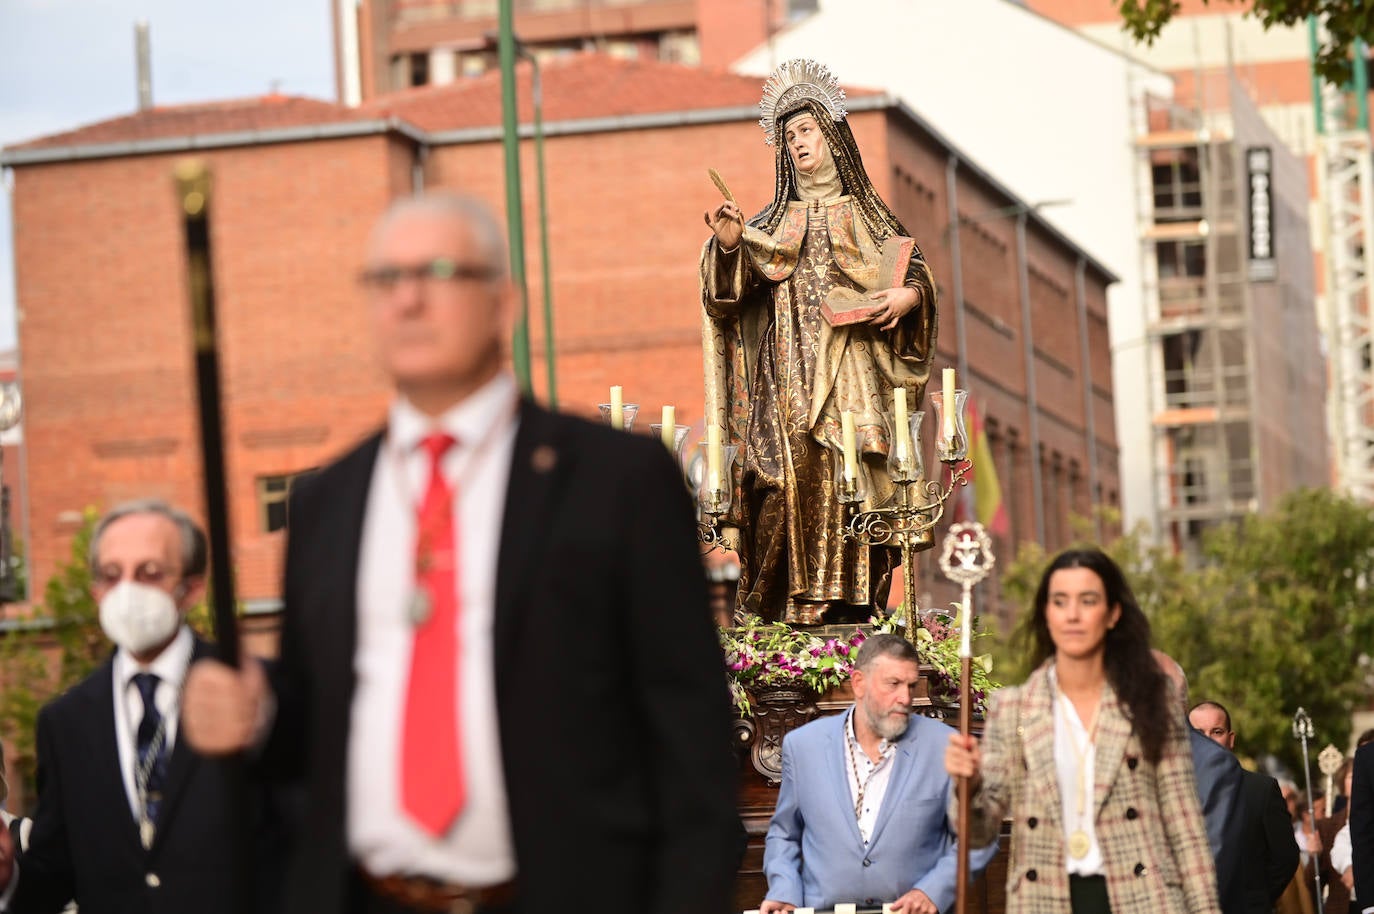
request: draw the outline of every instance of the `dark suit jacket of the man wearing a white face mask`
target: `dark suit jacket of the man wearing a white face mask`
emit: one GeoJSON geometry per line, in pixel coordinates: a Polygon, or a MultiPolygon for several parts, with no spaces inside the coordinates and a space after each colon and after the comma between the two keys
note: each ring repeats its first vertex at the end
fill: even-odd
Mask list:
{"type": "MultiPolygon", "coordinates": [[[[212,649],[196,642],[194,658],[212,649]]],[[[11,911],[81,914],[236,914],[229,804],[223,761],[177,739],[157,837],[143,848],[129,810],[114,735],[111,660],[38,713],[38,807],[19,855],[11,911]]]]}

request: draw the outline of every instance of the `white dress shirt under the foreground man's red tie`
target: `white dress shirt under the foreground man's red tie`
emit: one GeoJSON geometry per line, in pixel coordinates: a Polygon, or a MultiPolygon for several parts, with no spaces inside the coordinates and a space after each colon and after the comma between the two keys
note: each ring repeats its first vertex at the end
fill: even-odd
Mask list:
{"type": "Polygon", "coordinates": [[[492,624],[496,558],[515,447],[515,382],[499,375],[437,419],[404,399],[372,467],[357,568],[357,647],[348,742],[348,845],[374,876],[420,874],[491,885],[515,874],[496,719],[492,624]],[[420,441],[448,432],[458,548],[459,739],[467,793],[447,834],[401,808],[400,755],[415,628],[415,520],[429,485],[420,441]]]}

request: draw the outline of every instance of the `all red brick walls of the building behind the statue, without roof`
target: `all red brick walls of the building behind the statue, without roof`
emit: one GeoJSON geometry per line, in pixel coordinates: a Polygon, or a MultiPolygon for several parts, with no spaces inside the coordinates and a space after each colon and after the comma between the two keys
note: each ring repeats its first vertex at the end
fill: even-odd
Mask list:
{"type": "MultiPolygon", "coordinates": [[[[852,126],[879,191],[926,252],[945,291],[940,364],[955,352],[949,296],[945,153],[896,115],[857,113],[852,126]]],[[[214,253],[228,397],[235,565],[245,598],[276,594],[279,535],[258,528],[254,480],[317,466],[374,427],[386,390],[367,339],[356,289],[365,234],[394,195],[408,192],[412,150],[371,137],[262,146],[212,154],[214,253]]],[[[702,212],[720,197],[716,168],[742,206],[761,209],[774,179],[772,148],[753,122],[550,137],[548,212],[555,276],[559,404],[591,415],[613,383],[643,407],[643,426],[665,403],[677,421],[701,419],[697,256],[702,212]]],[[[30,459],[32,555],[41,586],[66,557],[70,521],[85,504],[164,495],[196,509],[196,430],[181,238],[169,157],[23,166],[15,224],[30,459]]],[[[533,148],[525,144],[525,227],[534,383],[543,394],[539,224],[533,148]]],[[[430,187],[469,191],[504,212],[499,143],[447,146],[425,165],[430,187]]],[[[967,220],[1006,205],[969,169],[959,172],[967,220]]],[[[965,223],[966,333],[980,405],[1006,443],[1025,447],[1025,372],[1017,297],[1014,219],[965,223]]],[[[1073,313],[1073,260],[1032,231],[1037,345],[1069,371],[1041,366],[1047,455],[1085,466],[1083,394],[1073,313]],[[1044,283],[1043,283],[1044,285],[1044,283]],[[1039,289],[1039,286],[1036,286],[1039,289]],[[1068,313],[1066,313],[1068,308],[1068,313]],[[1063,372],[1059,372],[1061,375],[1063,372]]],[[[1101,280],[1090,274],[1101,313],[1101,280]],[[1096,283],[1096,286],[1094,286],[1096,283]]],[[[1110,390],[1106,327],[1094,371],[1110,390]]],[[[1109,401],[1098,437],[1110,443],[1109,401]]],[[[1116,489],[1114,449],[1099,471],[1116,489]]],[[[1024,455],[1022,455],[1024,458],[1024,455]]],[[[1029,477],[1006,460],[1003,487],[1017,532],[1028,536],[1029,477]]],[[[1068,482],[1065,482],[1068,487],[1068,482]]],[[[1065,495],[1072,499],[1072,493],[1065,495]]],[[[1083,496],[1073,502],[1076,510],[1083,496]]],[[[1055,507],[1068,511],[1068,504],[1055,507]]],[[[1062,526],[1062,524],[1059,524],[1062,526]]],[[[1054,528],[1058,529],[1058,528],[1054,528]]]]}

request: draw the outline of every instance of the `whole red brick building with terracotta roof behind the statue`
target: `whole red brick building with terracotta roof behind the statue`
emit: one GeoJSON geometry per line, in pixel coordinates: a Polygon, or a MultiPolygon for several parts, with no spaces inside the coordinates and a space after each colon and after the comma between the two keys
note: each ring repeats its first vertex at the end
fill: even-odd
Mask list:
{"type": "MultiPolygon", "coordinates": [[[[767,202],[772,150],[756,124],[758,92],[757,78],[598,55],[545,69],[563,408],[591,414],[620,383],[649,411],[672,403],[679,422],[699,421],[697,254],[701,213],[719,199],[706,169],[717,168],[746,209],[767,202]]],[[[1113,278],[901,103],[852,89],[849,109],[870,176],[945,289],[958,231],[966,306],[955,315],[941,304],[938,361],[954,363],[962,323],[971,374],[962,383],[988,419],[1013,539],[1035,539],[1043,525],[1046,544],[1059,546],[1070,511],[1117,500],[1105,306],[1113,278]],[[982,217],[998,212],[1020,219],[982,217]]],[[[416,186],[473,192],[502,212],[499,120],[492,73],[357,109],[280,96],[153,109],[0,154],[14,169],[34,580],[66,555],[85,504],[146,493],[201,503],[176,159],[195,151],[214,170],[235,570],[239,594],[269,609],[287,480],[383,416],[354,282],[367,228],[416,186]]],[[[534,159],[523,147],[534,225],[534,159]]],[[[528,246],[537,278],[534,232],[528,246]]],[[[532,280],[530,300],[539,294],[532,280]]],[[[547,334],[537,320],[532,337],[539,366],[547,334]]]]}

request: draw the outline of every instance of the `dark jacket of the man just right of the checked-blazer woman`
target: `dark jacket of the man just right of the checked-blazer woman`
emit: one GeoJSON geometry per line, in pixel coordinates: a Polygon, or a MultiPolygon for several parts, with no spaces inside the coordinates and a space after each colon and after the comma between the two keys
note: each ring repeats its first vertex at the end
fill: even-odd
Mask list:
{"type": "Polygon", "coordinates": [[[1259,771],[1241,770],[1237,804],[1241,854],[1232,888],[1221,893],[1224,914],[1270,914],[1293,880],[1298,849],[1279,782],[1259,771]]]}

